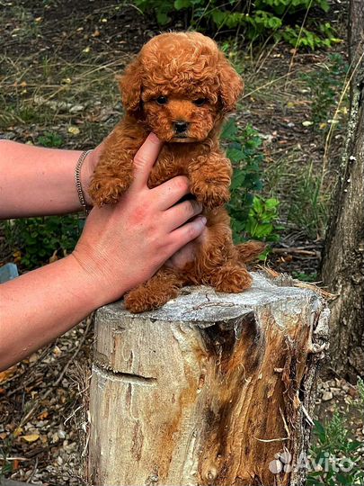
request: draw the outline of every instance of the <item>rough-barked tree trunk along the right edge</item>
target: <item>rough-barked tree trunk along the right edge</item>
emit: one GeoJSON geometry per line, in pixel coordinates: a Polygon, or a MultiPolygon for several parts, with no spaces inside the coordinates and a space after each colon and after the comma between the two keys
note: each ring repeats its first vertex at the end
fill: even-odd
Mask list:
{"type": "Polygon", "coordinates": [[[337,295],[333,368],[353,381],[364,375],[364,0],[351,0],[349,17],[351,114],[322,272],[337,295]]]}

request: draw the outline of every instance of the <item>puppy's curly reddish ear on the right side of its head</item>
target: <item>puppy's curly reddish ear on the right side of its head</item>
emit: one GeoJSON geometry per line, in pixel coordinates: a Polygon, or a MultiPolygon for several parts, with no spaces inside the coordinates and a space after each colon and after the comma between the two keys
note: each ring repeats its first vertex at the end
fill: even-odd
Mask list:
{"type": "Polygon", "coordinates": [[[219,52],[218,76],[220,78],[220,97],[223,111],[232,112],[235,109],[237,99],[243,93],[244,82],[222,52],[219,52]]]}

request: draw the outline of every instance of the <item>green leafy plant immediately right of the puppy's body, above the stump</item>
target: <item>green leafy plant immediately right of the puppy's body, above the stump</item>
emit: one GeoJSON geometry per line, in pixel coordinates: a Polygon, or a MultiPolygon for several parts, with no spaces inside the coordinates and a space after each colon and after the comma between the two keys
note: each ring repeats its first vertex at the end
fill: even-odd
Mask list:
{"type": "Polygon", "coordinates": [[[254,194],[262,191],[262,139],[251,125],[239,131],[233,119],[227,121],[221,139],[227,143],[226,155],[234,166],[227,209],[235,241],[276,241],[279,236],[274,223],[278,220],[279,202],[254,194]]]}

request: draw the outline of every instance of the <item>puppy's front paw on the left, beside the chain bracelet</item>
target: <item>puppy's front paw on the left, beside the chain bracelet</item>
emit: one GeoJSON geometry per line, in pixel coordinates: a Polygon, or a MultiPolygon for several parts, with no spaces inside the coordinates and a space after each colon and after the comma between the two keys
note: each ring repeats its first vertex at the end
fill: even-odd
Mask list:
{"type": "Polygon", "coordinates": [[[93,202],[97,206],[115,204],[122,193],[128,189],[131,180],[121,180],[118,177],[99,177],[95,175],[88,189],[93,202]]]}

